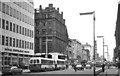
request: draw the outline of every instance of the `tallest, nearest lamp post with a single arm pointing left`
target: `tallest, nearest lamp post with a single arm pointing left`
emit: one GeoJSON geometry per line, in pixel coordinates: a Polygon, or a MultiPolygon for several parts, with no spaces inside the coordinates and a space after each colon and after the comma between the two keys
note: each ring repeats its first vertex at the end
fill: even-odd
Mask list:
{"type": "Polygon", "coordinates": [[[93,59],[94,59],[94,68],[93,68],[93,74],[94,76],[96,76],[96,73],[95,73],[95,11],[93,12],[86,12],[86,13],[80,13],[80,15],[91,15],[93,14],[93,47],[94,47],[94,50],[93,50],[93,59]]]}

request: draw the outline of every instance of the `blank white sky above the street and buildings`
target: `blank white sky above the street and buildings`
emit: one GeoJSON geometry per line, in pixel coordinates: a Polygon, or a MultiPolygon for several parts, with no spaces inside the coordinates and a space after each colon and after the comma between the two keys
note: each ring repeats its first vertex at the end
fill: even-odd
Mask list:
{"type": "MultiPolygon", "coordinates": [[[[95,11],[95,39],[97,41],[97,52],[103,54],[103,39],[97,36],[104,36],[105,45],[108,45],[109,59],[113,57],[115,48],[115,27],[117,20],[119,0],[34,0],[34,8],[53,7],[63,11],[63,18],[68,30],[70,39],[77,39],[82,44],[93,45],[93,15],[80,15],[80,13],[95,11]]],[[[104,47],[105,52],[107,48],[104,47]]],[[[105,53],[105,57],[106,57],[105,53]]]]}

